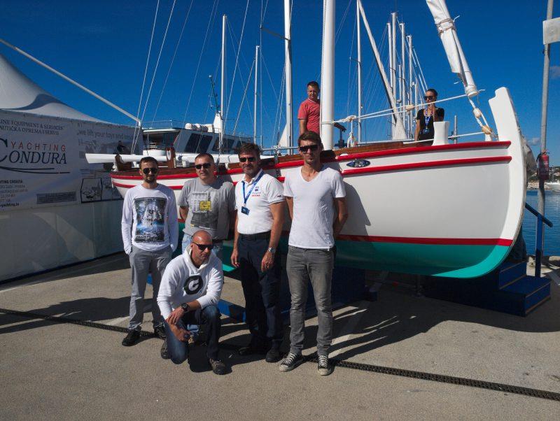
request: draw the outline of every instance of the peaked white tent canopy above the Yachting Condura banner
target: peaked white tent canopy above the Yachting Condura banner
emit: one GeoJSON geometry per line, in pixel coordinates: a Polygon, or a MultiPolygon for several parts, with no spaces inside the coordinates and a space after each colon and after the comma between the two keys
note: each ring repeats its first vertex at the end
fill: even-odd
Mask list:
{"type": "Polygon", "coordinates": [[[67,106],[43,90],[0,54],[0,109],[101,122],[90,115],[67,106]]]}

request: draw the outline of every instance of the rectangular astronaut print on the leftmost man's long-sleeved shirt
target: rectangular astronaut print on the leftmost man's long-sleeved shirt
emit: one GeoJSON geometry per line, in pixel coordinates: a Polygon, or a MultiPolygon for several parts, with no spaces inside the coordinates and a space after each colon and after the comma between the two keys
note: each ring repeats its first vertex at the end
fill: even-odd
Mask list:
{"type": "Polygon", "coordinates": [[[144,197],[134,199],[136,209],[136,231],[134,241],[137,243],[160,243],[165,240],[165,204],[162,197],[144,197]]]}

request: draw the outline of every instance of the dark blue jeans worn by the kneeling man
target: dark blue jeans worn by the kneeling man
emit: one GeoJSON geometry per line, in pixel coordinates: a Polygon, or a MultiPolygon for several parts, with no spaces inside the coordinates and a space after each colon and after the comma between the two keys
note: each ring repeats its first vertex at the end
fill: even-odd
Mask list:
{"type": "MultiPolygon", "coordinates": [[[[218,359],[218,341],[220,341],[221,314],[216,306],[198,308],[183,315],[177,326],[187,329],[188,324],[207,325],[207,357],[218,359]]],[[[179,341],[173,334],[169,324],[165,322],[165,335],[167,336],[167,352],[174,364],[181,364],[188,357],[188,343],[179,341]]]]}

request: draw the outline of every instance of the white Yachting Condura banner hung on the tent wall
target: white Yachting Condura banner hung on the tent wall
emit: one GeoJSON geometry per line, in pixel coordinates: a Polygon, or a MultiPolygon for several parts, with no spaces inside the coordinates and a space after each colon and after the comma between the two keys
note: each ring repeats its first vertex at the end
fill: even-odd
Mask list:
{"type": "Polygon", "coordinates": [[[87,164],[85,152],[112,153],[118,141],[130,143],[133,131],[0,112],[0,211],[118,199],[107,169],[87,164]]]}

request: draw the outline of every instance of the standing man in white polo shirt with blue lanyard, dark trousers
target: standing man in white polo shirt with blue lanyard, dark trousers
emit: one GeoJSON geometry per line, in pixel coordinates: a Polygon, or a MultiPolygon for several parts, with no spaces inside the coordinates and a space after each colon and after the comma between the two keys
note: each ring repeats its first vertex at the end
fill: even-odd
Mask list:
{"type": "Polygon", "coordinates": [[[251,342],[240,355],[265,354],[267,362],[280,359],[283,338],[280,315],[280,257],[276,247],[282,233],[282,185],[260,168],[260,150],[244,143],[238,151],[245,177],[235,186],[237,220],[232,264],[241,270],[246,322],[251,342]]]}

